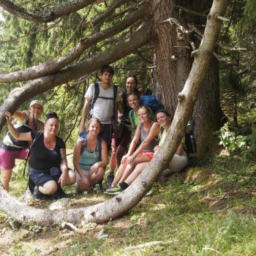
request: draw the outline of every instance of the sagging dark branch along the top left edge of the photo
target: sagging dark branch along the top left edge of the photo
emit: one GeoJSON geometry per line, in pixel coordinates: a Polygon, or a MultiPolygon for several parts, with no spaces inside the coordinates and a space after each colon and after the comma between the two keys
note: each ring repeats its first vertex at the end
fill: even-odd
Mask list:
{"type": "Polygon", "coordinates": [[[89,4],[93,4],[97,0],[69,0],[64,1],[62,4],[58,4],[55,7],[45,10],[26,10],[25,8],[14,4],[10,0],[0,0],[0,6],[12,13],[12,15],[23,18],[24,20],[34,21],[36,23],[47,23],[57,18],[69,15],[71,12],[76,12],[89,4]]]}

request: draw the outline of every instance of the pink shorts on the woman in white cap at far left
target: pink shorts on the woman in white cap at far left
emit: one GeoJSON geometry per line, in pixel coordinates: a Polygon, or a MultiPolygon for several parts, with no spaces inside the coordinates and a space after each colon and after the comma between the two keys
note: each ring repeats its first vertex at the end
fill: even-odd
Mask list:
{"type": "Polygon", "coordinates": [[[15,167],[15,159],[25,160],[29,153],[29,148],[21,148],[18,151],[9,151],[0,148],[0,169],[10,170],[15,167]]]}

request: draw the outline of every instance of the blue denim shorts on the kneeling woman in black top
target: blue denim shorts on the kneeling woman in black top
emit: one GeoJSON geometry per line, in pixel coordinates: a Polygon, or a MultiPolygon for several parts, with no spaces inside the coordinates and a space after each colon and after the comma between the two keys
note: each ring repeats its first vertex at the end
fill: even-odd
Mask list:
{"type": "Polygon", "coordinates": [[[61,170],[57,167],[51,167],[49,170],[36,170],[29,166],[29,177],[37,186],[43,186],[48,181],[56,181],[58,183],[61,176],[61,170]]]}

